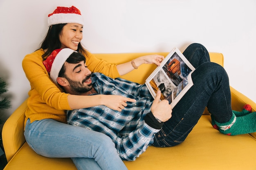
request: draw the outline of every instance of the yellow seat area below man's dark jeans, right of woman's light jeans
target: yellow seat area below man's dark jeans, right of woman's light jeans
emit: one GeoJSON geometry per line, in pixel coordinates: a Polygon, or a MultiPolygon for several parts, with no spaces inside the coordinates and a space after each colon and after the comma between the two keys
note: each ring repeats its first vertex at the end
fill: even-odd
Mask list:
{"type": "Polygon", "coordinates": [[[249,134],[223,135],[210,121],[202,115],[178,146],[150,146],[136,161],[125,161],[128,170],[255,170],[256,140],[249,134]]]}

